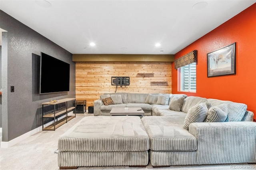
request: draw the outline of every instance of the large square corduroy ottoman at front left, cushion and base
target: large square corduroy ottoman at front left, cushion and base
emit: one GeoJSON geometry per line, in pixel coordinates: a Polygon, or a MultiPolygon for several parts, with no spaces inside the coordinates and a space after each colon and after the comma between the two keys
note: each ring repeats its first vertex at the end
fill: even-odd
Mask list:
{"type": "Polygon", "coordinates": [[[84,117],[58,141],[60,169],[148,164],[149,138],[138,116],[84,117]]]}

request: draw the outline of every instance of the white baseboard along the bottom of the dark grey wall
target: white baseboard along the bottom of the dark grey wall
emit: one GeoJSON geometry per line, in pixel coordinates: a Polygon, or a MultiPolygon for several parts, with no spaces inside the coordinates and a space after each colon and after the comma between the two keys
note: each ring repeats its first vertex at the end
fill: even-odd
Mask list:
{"type": "MultiPolygon", "coordinates": [[[[68,115],[72,115],[72,114],[73,114],[73,111],[68,113],[68,115]]],[[[58,119],[62,119],[64,117],[65,116],[61,116],[58,119]]],[[[48,122],[48,123],[44,124],[44,126],[49,126],[52,123],[53,123],[53,121],[48,122]]],[[[1,128],[1,130],[2,130],[2,128],[1,128]]],[[[34,134],[36,134],[37,132],[40,132],[40,131],[42,131],[42,126],[40,126],[38,128],[35,128],[35,129],[25,133],[25,134],[22,134],[21,136],[19,136],[17,138],[14,138],[13,140],[10,140],[8,142],[2,142],[1,141],[1,148],[9,148],[9,147],[21,142],[22,140],[28,138],[29,136],[32,136],[32,135],[34,135],[34,134]]]]}

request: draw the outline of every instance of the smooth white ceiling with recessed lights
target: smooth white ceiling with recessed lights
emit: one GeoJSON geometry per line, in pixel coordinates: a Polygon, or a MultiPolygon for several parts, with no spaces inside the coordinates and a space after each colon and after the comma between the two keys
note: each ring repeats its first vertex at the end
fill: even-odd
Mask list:
{"type": "Polygon", "coordinates": [[[0,0],[0,9],[72,54],[175,54],[256,0],[48,2],[0,0]]]}

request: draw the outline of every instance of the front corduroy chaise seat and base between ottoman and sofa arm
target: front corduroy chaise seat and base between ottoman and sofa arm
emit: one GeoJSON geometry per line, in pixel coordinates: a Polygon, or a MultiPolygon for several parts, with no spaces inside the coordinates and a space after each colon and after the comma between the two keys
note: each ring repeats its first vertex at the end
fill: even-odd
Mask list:
{"type": "Polygon", "coordinates": [[[155,167],[190,165],[196,161],[196,138],[182,128],[182,116],[145,116],[150,138],[150,162],[155,167]]]}

